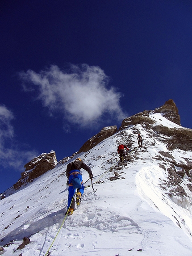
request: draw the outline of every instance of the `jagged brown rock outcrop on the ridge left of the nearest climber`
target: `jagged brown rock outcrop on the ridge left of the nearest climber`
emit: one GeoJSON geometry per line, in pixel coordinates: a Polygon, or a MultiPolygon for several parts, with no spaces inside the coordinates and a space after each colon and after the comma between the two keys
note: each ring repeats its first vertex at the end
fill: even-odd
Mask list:
{"type": "Polygon", "coordinates": [[[43,173],[53,169],[57,164],[55,151],[50,153],[43,153],[35,157],[29,163],[25,164],[25,172],[21,173],[21,178],[13,185],[13,189],[20,189],[22,185],[32,182],[35,178],[41,176],[43,173]]]}

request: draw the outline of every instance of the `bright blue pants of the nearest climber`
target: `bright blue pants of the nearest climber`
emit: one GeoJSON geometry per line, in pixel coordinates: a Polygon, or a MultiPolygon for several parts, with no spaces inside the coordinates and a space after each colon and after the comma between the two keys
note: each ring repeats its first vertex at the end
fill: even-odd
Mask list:
{"type": "MultiPolygon", "coordinates": [[[[75,170],[76,171],[76,170],[75,170]]],[[[69,206],[70,208],[73,208],[75,209],[75,201],[73,200],[72,203],[71,203],[71,200],[73,199],[73,196],[75,194],[75,189],[73,188],[73,184],[72,184],[72,179],[73,178],[79,178],[81,180],[81,188],[80,189],[77,189],[77,192],[81,192],[81,195],[83,195],[84,193],[84,185],[83,185],[83,178],[82,178],[82,175],[79,173],[73,175],[71,174],[69,176],[69,188],[68,188],[68,205],[67,205],[67,209],[69,209],[69,206]]]]}

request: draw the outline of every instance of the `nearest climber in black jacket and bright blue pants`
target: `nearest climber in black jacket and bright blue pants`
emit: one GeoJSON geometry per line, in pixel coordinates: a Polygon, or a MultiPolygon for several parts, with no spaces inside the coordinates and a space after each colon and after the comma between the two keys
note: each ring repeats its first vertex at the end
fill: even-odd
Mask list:
{"type": "Polygon", "coordinates": [[[83,186],[83,178],[82,173],[80,172],[80,169],[83,168],[86,170],[89,174],[90,179],[92,180],[92,170],[91,168],[84,164],[83,161],[80,158],[75,159],[74,162],[71,162],[67,164],[67,170],[66,170],[66,176],[68,178],[68,204],[67,204],[67,212],[65,214],[71,215],[73,214],[73,211],[75,209],[75,190],[77,189],[76,193],[76,203],[77,206],[81,203],[81,197],[84,192],[84,186],[83,186]]]}

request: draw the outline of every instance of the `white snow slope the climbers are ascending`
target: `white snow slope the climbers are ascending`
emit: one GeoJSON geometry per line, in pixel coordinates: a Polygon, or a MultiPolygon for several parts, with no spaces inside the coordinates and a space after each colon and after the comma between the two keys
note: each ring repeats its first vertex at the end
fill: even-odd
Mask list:
{"type": "MultiPolygon", "coordinates": [[[[155,125],[180,127],[159,113],[150,118],[155,125]]],[[[138,124],[76,155],[92,169],[97,190],[93,191],[88,172],[82,170],[84,182],[88,180],[82,203],[64,223],[68,197],[65,170],[71,160],[1,200],[0,246],[13,241],[4,247],[3,255],[43,256],[54,241],[50,256],[191,256],[192,197],[188,176],[182,178],[188,196],[173,193],[170,197],[170,189],[177,186],[165,186],[170,178],[165,169],[171,164],[157,155],[165,151],[177,163],[185,163],[186,159],[192,160],[192,151],[168,151],[166,139],[138,124]],[[138,131],[144,147],[137,147],[138,131]],[[122,165],[118,163],[119,143],[131,144],[134,149],[127,155],[130,160],[122,165]],[[119,176],[115,177],[113,171],[119,176]],[[29,237],[31,243],[17,250],[24,237],[29,237]]]]}

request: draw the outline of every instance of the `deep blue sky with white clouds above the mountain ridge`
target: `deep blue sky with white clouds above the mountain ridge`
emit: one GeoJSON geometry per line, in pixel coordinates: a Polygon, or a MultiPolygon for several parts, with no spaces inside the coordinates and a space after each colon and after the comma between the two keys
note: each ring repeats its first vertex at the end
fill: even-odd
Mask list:
{"type": "Polygon", "coordinates": [[[0,192],[169,99],[192,128],[189,0],[2,0],[0,49],[0,192]]]}

